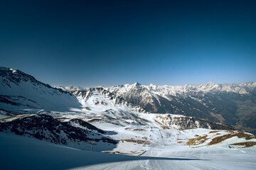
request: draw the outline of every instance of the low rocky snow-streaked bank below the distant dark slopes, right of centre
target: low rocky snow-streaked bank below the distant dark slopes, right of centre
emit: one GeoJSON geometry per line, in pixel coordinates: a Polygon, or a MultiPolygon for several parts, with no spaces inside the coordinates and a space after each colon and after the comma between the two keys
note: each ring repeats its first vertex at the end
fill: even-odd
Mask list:
{"type": "Polygon", "coordinates": [[[156,116],[156,123],[161,125],[164,129],[174,128],[176,130],[187,130],[205,128],[211,130],[235,130],[235,128],[230,125],[185,116],[175,117],[172,115],[159,115],[156,116]]]}

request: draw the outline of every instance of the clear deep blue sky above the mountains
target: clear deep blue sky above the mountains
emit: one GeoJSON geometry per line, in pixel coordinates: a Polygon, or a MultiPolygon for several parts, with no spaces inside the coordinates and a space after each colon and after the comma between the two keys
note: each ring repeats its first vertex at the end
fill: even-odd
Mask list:
{"type": "Polygon", "coordinates": [[[1,1],[0,66],[52,86],[256,81],[256,1],[1,1]]]}

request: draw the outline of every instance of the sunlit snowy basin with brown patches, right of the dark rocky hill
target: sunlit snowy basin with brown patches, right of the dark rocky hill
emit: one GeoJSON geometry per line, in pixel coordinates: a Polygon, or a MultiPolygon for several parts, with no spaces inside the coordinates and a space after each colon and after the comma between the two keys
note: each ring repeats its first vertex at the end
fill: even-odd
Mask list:
{"type": "Polygon", "coordinates": [[[211,123],[208,120],[183,115],[136,112],[119,114],[116,111],[99,112],[92,108],[91,111],[84,110],[79,114],[62,113],[56,116],[58,120],[64,122],[74,118],[85,120],[107,131],[106,137],[119,141],[116,148],[105,149],[107,153],[139,155],[148,152],[159,143],[181,148],[188,148],[189,145],[197,148],[206,147],[206,145],[228,147],[228,145],[234,144],[235,146],[241,142],[252,142],[253,145],[256,143],[253,135],[234,131],[234,128],[229,125],[211,123]],[[199,139],[188,144],[195,137],[199,139]],[[201,141],[201,137],[206,141],[201,141]],[[220,142],[212,142],[217,140],[215,137],[224,138],[218,140],[220,142]]]}

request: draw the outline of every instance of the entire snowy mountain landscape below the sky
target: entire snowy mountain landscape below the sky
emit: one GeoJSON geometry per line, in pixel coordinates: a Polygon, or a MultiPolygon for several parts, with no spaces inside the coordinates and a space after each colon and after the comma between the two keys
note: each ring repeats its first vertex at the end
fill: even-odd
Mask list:
{"type": "Polygon", "coordinates": [[[33,169],[47,169],[48,163],[55,164],[56,169],[82,169],[82,165],[85,169],[187,169],[191,162],[188,157],[193,159],[189,164],[192,169],[222,169],[238,154],[244,158],[242,162],[249,158],[250,164],[229,164],[227,169],[255,168],[255,136],[210,121],[225,122],[235,116],[253,121],[253,83],[223,87],[228,90],[219,90],[215,84],[175,89],[139,83],[55,89],[16,69],[1,67],[0,71],[0,158],[7,162],[3,165],[6,169],[27,164],[33,169]],[[88,152],[92,148],[98,153],[88,152]],[[42,157],[48,162],[42,163],[42,157]],[[61,157],[62,163],[56,163],[56,157],[61,157]],[[202,157],[203,163],[198,164],[202,157]],[[114,162],[111,166],[110,158],[114,162]],[[137,162],[129,166],[126,162],[132,159],[137,162]],[[9,164],[14,160],[18,166],[9,164]],[[31,166],[31,161],[40,166],[31,166]],[[166,161],[168,164],[162,166],[166,161]],[[92,164],[99,165],[87,166],[92,164]]]}

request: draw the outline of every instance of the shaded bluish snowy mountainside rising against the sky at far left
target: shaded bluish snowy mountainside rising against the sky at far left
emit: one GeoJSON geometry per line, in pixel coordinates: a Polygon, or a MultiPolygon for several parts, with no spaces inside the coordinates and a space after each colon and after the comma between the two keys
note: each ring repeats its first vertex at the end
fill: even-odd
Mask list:
{"type": "Polygon", "coordinates": [[[69,111],[69,108],[80,107],[78,99],[69,92],[43,84],[18,69],[6,67],[0,67],[0,102],[0,108],[8,111],[29,108],[69,111]]]}

